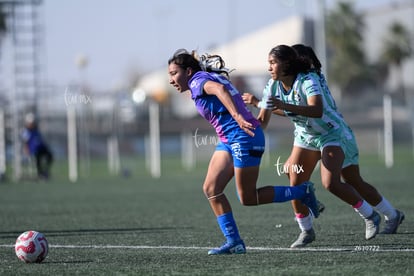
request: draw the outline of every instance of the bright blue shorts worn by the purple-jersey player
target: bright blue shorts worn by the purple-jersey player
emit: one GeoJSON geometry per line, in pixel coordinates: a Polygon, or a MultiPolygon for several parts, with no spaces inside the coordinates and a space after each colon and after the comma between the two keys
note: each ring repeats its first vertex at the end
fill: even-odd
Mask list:
{"type": "Polygon", "coordinates": [[[216,150],[229,152],[236,168],[259,166],[265,149],[265,138],[261,127],[253,132],[254,137],[241,131],[229,139],[228,143],[218,143],[216,150]]]}

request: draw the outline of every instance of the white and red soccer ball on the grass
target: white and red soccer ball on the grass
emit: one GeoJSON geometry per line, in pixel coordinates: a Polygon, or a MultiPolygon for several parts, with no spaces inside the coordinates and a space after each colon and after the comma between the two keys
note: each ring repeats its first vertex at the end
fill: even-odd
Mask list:
{"type": "Polygon", "coordinates": [[[49,252],[49,244],[42,233],[31,230],[17,238],[14,251],[25,263],[40,263],[49,252]]]}

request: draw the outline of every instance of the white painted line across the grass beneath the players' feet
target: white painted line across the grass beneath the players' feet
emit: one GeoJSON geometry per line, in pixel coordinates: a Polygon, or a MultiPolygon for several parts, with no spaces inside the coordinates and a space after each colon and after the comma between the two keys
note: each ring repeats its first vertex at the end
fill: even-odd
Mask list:
{"type": "MultiPolygon", "coordinates": [[[[12,244],[0,244],[0,248],[13,248],[12,244]]],[[[64,245],[49,244],[49,248],[63,249],[167,249],[167,250],[209,250],[211,247],[201,246],[151,246],[151,245],[64,245]]],[[[288,248],[288,247],[246,247],[252,251],[311,251],[311,252],[414,252],[414,248],[380,248],[379,246],[355,246],[355,247],[305,247],[305,248],[288,248]]]]}

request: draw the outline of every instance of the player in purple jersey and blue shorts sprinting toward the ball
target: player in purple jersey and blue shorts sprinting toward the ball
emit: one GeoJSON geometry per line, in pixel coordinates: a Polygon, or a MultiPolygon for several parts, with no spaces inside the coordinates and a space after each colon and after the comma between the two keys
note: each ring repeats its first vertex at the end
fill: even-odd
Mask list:
{"type": "Polygon", "coordinates": [[[242,254],[246,247],[239,235],[224,189],[235,177],[241,204],[255,206],[272,202],[301,200],[315,215],[318,206],[313,184],[256,188],[265,147],[260,122],[247,109],[229,81],[229,71],[220,56],[178,50],[168,61],[169,82],[178,92],[190,90],[198,112],[216,130],[220,139],[211,157],[203,191],[216,216],[226,242],[208,251],[209,255],[242,254]],[[223,75],[224,74],[224,75],[223,75]]]}

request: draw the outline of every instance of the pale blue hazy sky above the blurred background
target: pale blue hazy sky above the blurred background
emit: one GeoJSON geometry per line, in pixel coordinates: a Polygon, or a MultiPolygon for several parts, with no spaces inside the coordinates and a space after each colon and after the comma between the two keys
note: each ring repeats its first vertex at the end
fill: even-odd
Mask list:
{"type": "MultiPolygon", "coordinates": [[[[313,16],[317,2],[44,0],[46,76],[60,85],[83,78],[93,88],[112,89],[134,72],[165,66],[177,48],[205,51],[292,15],[313,16]],[[83,71],[79,56],[88,59],[83,71]]],[[[354,2],[364,9],[392,0],[354,2]]]]}

